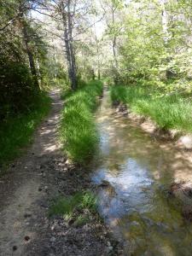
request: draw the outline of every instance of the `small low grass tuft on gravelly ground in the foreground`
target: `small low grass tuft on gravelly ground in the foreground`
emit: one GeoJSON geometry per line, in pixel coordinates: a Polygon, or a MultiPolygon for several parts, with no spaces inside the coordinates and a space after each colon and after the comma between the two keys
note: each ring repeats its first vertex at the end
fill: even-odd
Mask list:
{"type": "Polygon", "coordinates": [[[57,198],[49,208],[49,216],[62,215],[66,221],[73,219],[75,225],[89,221],[90,212],[96,212],[96,195],[90,191],[57,198]]]}

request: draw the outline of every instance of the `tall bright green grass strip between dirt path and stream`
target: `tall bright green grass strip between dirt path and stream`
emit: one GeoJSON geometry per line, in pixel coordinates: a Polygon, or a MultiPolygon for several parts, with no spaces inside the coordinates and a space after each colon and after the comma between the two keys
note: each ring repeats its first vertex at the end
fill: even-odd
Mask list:
{"type": "Polygon", "coordinates": [[[74,162],[85,164],[95,153],[99,137],[93,112],[101,95],[102,82],[91,81],[65,96],[60,137],[65,153],[74,162]]]}

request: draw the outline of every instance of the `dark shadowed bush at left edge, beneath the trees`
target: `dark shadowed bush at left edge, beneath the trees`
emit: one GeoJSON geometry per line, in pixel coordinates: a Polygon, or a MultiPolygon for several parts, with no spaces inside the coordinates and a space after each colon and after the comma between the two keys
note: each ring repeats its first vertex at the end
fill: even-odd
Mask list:
{"type": "Polygon", "coordinates": [[[23,63],[0,60],[0,119],[26,113],[38,94],[31,73],[23,63]]]}

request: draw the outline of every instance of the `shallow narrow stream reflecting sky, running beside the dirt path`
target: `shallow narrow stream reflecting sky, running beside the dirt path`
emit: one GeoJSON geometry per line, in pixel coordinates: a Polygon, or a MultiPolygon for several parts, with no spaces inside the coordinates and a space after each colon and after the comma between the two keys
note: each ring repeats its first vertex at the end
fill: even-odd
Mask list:
{"type": "Polygon", "coordinates": [[[168,195],[172,182],[192,180],[189,153],[156,141],[114,113],[108,92],[96,113],[101,152],[92,180],[99,211],[125,255],[192,255],[192,224],[168,195]]]}

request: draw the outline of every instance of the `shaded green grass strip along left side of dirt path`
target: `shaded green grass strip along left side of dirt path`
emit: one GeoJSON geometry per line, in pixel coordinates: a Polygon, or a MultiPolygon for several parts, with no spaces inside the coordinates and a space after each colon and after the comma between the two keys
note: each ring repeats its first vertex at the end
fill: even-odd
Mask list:
{"type": "Polygon", "coordinates": [[[0,165],[6,165],[22,152],[22,148],[32,141],[35,128],[49,113],[50,99],[42,93],[29,113],[7,119],[0,126],[0,165]]]}

